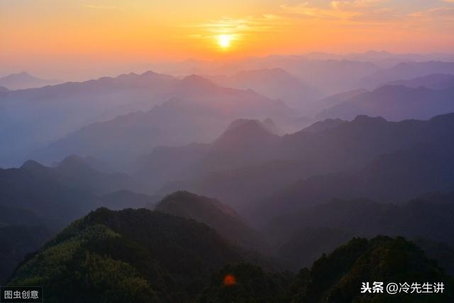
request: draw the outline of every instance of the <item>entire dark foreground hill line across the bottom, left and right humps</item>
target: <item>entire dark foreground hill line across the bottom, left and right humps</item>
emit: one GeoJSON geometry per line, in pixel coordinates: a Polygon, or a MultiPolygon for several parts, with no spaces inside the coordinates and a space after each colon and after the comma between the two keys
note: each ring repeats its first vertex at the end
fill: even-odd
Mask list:
{"type": "Polygon", "coordinates": [[[28,255],[9,285],[43,285],[45,302],[50,303],[453,299],[451,278],[403,238],[355,238],[322,255],[296,279],[291,273],[244,263],[248,260],[194,220],[147,209],[97,209],[28,255]],[[372,281],[443,282],[445,291],[394,297],[360,294],[361,282],[372,281]]]}

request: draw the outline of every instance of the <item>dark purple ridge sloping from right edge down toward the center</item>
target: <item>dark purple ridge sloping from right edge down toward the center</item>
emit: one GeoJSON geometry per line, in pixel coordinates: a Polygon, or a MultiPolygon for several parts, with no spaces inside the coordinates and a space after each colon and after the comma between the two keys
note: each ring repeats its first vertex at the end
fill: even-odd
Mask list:
{"type": "Polygon", "coordinates": [[[251,216],[263,220],[333,198],[368,197],[403,203],[425,192],[452,191],[454,176],[450,172],[454,167],[449,159],[454,142],[443,140],[382,155],[359,172],[318,175],[295,182],[249,206],[251,216]]]}

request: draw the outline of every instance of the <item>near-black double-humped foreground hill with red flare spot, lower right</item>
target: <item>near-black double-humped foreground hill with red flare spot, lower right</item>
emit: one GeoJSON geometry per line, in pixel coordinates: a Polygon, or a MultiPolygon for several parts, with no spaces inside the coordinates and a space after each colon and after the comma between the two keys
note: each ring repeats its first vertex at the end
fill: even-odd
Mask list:
{"type": "MultiPolygon", "coordinates": [[[[240,264],[228,265],[211,278],[197,302],[452,302],[453,278],[421,249],[404,238],[353,238],[296,278],[240,264]],[[438,294],[361,294],[362,282],[443,282],[438,294]],[[448,287],[448,288],[446,288],[448,287]]],[[[411,290],[410,290],[411,291],[411,290]]],[[[410,292],[409,291],[409,292],[410,292]]]]}

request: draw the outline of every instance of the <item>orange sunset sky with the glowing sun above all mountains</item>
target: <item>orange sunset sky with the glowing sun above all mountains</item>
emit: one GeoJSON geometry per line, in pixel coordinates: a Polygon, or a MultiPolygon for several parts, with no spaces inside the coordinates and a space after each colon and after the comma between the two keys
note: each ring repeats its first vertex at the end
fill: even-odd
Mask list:
{"type": "Polygon", "coordinates": [[[309,52],[453,53],[454,0],[0,0],[0,76],[309,52]]]}

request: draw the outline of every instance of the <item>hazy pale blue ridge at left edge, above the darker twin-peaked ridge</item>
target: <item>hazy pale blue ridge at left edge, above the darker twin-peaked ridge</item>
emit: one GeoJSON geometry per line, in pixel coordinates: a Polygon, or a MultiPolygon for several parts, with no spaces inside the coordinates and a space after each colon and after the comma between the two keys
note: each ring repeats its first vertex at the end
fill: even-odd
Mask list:
{"type": "MultiPolygon", "coordinates": [[[[1,166],[18,166],[37,148],[82,126],[149,110],[168,97],[177,79],[155,72],[66,82],[0,94],[1,166]]],[[[74,151],[75,153],[75,151],[74,151]]],[[[73,153],[60,155],[60,160],[73,153]]]]}

